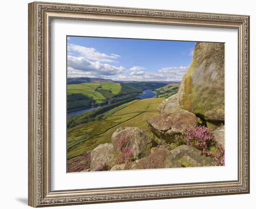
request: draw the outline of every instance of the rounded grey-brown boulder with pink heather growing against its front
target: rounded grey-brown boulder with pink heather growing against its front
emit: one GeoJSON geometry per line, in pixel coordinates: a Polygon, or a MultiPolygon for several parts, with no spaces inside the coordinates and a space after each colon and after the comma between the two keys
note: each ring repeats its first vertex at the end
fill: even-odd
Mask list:
{"type": "Polygon", "coordinates": [[[120,127],[112,135],[112,144],[117,154],[118,141],[123,137],[129,137],[127,148],[133,153],[133,159],[137,160],[150,154],[150,148],[154,145],[154,137],[150,137],[146,130],[137,127],[120,127]]]}

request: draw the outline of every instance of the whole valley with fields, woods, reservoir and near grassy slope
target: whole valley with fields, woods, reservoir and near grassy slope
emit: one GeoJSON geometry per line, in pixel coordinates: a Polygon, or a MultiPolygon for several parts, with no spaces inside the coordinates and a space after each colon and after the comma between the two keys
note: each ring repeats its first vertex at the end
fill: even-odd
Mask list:
{"type": "Polygon", "coordinates": [[[77,78],[67,81],[67,159],[109,143],[121,126],[148,129],[146,118],[179,83],[114,82],[77,78]]]}

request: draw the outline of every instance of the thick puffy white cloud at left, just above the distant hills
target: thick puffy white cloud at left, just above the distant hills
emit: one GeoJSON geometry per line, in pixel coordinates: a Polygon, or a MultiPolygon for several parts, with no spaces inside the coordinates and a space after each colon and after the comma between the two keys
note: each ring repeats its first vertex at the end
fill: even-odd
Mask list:
{"type": "Polygon", "coordinates": [[[77,75],[93,74],[94,76],[98,75],[98,77],[111,76],[125,71],[125,68],[122,66],[116,67],[109,64],[102,64],[99,61],[92,62],[84,57],[74,57],[70,55],[67,56],[67,67],[68,69],[73,69],[73,71],[67,71],[68,76],[70,74],[74,76],[75,73],[77,73],[77,75]]]}

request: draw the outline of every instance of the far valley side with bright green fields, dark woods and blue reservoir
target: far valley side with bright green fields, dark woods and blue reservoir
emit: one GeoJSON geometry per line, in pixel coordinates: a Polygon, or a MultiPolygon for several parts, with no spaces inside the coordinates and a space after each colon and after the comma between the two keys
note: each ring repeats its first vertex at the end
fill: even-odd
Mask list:
{"type": "Polygon", "coordinates": [[[67,111],[99,104],[113,104],[136,97],[145,89],[166,85],[160,82],[114,82],[102,78],[67,78],[67,111]]]}

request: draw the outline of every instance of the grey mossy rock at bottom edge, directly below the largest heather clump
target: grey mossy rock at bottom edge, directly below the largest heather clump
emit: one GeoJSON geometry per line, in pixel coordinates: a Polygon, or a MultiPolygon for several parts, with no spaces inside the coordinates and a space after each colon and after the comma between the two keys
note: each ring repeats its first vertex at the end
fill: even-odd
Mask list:
{"type": "Polygon", "coordinates": [[[205,157],[199,154],[199,150],[189,145],[181,145],[170,151],[174,160],[178,161],[183,167],[201,167],[214,165],[211,157],[205,157]]]}

